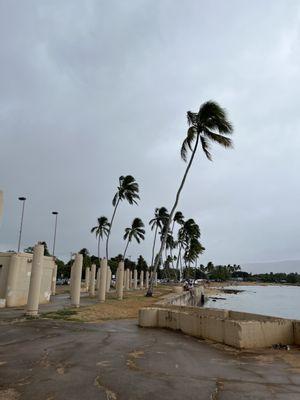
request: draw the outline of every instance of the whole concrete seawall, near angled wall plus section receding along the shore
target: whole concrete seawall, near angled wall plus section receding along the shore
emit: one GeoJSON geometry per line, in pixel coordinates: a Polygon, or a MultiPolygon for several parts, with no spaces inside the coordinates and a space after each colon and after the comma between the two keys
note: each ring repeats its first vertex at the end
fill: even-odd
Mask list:
{"type": "Polygon", "coordinates": [[[238,349],[300,345],[300,321],[212,308],[189,306],[201,298],[202,288],[172,294],[157,307],[139,310],[139,325],[169,328],[187,335],[224,343],[238,349]],[[191,299],[193,297],[193,299],[191,299]]]}

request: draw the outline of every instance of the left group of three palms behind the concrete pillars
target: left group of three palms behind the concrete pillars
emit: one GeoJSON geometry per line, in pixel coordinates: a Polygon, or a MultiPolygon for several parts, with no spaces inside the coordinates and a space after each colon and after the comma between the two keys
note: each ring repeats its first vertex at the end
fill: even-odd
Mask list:
{"type": "MultiPolygon", "coordinates": [[[[108,218],[105,216],[99,217],[97,220],[97,225],[91,229],[91,233],[95,233],[96,239],[98,240],[98,258],[100,261],[100,243],[101,240],[106,238],[106,258],[109,259],[109,238],[111,234],[111,229],[113,222],[115,220],[116,212],[120,202],[123,200],[127,201],[129,204],[138,204],[139,197],[139,185],[135,181],[134,177],[131,175],[120,176],[119,185],[117,191],[112,199],[113,213],[111,220],[109,222],[108,218]]],[[[125,228],[125,233],[123,239],[126,241],[123,258],[125,258],[128,246],[132,239],[135,239],[138,243],[145,239],[144,223],[140,218],[134,218],[130,227],[125,228]]]]}

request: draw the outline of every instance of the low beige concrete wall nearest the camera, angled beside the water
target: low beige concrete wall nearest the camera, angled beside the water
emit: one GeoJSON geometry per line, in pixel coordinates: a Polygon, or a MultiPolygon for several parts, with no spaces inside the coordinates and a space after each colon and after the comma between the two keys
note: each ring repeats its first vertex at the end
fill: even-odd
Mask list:
{"type": "Polygon", "coordinates": [[[252,321],[237,321],[208,314],[152,307],[139,310],[139,325],[180,330],[190,336],[239,349],[270,347],[277,343],[300,344],[300,321],[281,318],[255,321],[255,314],[252,321]]]}

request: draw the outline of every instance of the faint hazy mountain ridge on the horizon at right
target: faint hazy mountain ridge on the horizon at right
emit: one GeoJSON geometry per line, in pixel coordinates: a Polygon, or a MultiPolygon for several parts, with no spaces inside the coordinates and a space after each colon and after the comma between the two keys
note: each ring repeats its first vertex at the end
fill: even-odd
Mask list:
{"type": "Polygon", "coordinates": [[[242,271],[252,272],[255,274],[264,274],[266,272],[297,272],[300,274],[300,260],[268,261],[244,263],[240,265],[242,271]]]}

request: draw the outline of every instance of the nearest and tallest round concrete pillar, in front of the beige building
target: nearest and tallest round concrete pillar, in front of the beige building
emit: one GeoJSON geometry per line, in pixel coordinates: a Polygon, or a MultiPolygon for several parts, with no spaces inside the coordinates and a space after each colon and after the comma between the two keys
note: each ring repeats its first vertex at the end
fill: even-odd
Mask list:
{"type": "Polygon", "coordinates": [[[43,275],[44,246],[36,244],[33,250],[26,315],[38,315],[43,275]]]}

